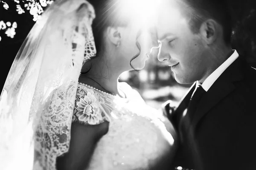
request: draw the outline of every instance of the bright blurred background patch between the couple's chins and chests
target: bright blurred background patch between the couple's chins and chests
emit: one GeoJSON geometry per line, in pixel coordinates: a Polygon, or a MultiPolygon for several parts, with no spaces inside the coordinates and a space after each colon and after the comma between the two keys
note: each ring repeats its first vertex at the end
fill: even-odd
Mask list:
{"type": "Polygon", "coordinates": [[[171,68],[166,62],[158,61],[157,57],[149,58],[143,70],[124,72],[119,82],[127,82],[148,105],[157,109],[167,100],[177,104],[191,86],[178,84],[171,68]]]}

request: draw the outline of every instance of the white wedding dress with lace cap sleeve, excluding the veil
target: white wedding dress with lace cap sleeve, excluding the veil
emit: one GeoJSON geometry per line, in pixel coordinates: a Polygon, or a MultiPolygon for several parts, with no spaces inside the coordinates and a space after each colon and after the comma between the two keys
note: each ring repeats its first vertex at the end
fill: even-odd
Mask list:
{"type": "Polygon", "coordinates": [[[171,162],[174,139],[160,120],[164,118],[127,83],[120,82],[119,89],[126,98],[78,85],[73,122],[110,122],[87,170],[149,170],[164,159],[171,162]]]}

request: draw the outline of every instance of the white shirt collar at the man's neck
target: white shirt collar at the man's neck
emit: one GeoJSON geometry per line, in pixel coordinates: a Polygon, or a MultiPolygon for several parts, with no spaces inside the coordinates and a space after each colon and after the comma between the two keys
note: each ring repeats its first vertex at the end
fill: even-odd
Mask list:
{"type": "MultiPolygon", "coordinates": [[[[208,91],[213,83],[218,79],[218,77],[220,77],[220,75],[239,57],[237,51],[233,51],[233,54],[204,80],[202,88],[205,91],[208,91]]],[[[197,81],[197,84],[198,83],[199,82],[197,81]]]]}

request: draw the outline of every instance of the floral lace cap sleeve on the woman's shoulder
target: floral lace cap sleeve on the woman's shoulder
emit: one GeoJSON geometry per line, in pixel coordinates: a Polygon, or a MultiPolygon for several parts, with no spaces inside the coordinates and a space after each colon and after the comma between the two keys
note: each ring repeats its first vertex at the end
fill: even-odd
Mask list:
{"type": "Polygon", "coordinates": [[[98,125],[106,121],[99,97],[92,89],[78,86],[72,122],[98,125]]]}

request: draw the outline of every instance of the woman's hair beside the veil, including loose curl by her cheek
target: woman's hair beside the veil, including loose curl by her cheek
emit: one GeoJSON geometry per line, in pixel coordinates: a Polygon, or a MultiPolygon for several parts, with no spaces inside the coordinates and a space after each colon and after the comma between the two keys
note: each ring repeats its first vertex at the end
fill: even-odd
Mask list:
{"type": "MultiPolygon", "coordinates": [[[[120,14],[119,5],[122,0],[87,0],[95,9],[95,19],[93,20],[92,29],[93,37],[95,41],[97,54],[105,50],[104,45],[104,31],[108,27],[127,26],[128,20],[120,14]]],[[[137,33],[137,38],[141,32],[137,33]]],[[[140,43],[136,41],[137,48],[141,50],[140,43]]],[[[132,59],[135,59],[140,55],[140,52],[136,54],[132,59]]],[[[131,65],[130,61],[130,65],[131,65]]],[[[131,68],[134,67],[131,65],[131,68]]],[[[135,70],[135,69],[134,69],[135,70]]]]}

